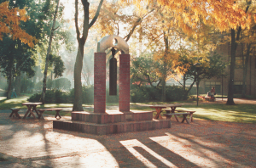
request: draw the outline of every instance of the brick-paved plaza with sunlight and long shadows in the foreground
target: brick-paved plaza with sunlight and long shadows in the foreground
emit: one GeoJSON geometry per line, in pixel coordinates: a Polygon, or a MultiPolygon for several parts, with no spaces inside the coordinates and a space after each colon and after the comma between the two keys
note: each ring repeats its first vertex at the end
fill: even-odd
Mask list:
{"type": "MultiPolygon", "coordinates": [[[[22,110],[24,115],[26,110],[22,110]]],[[[21,115],[22,115],[21,113],[21,115]]],[[[94,136],[0,111],[0,167],[255,167],[256,126],[211,120],[94,136]]]]}

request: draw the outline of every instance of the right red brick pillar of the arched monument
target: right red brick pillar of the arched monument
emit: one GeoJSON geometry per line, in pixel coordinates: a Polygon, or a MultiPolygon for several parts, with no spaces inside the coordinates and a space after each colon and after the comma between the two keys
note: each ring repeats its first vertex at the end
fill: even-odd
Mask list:
{"type": "Polygon", "coordinates": [[[119,111],[130,111],[130,54],[119,55],[119,111]]]}

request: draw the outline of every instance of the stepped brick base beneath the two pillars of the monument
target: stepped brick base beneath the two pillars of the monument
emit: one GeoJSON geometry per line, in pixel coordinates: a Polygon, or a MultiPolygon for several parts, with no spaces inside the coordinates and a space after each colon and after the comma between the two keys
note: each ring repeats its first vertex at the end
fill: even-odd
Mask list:
{"type": "Polygon", "coordinates": [[[72,120],[54,120],[54,129],[107,135],[171,128],[170,120],[154,120],[153,111],[73,112],[72,120]]]}

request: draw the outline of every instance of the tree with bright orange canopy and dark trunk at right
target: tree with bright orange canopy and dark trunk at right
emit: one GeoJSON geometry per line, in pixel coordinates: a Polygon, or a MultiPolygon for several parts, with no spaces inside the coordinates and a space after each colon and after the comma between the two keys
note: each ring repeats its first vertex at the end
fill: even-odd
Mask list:
{"type": "MultiPolygon", "coordinates": [[[[134,3],[140,6],[141,2],[148,1],[136,1],[134,3]]],[[[159,6],[166,7],[166,10],[171,11],[174,14],[173,21],[166,23],[177,25],[182,30],[189,34],[196,36],[198,31],[198,25],[203,22],[205,25],[212,25],[219,31],[230,31],[231,36],[231,60],[230,60],[230,82],[227,104],[234,104],[233,100],[233,86],[234,86],[234,72],[235,72],[235,60],[236,60],[236,46],[240,38],[241,30],[246,28],[255,20],[255,14],[249,11],[248,8],[254,3],[251,0],[244,1],[216,1],[216,0],[157,0],[156,3],[159,6]]]]}

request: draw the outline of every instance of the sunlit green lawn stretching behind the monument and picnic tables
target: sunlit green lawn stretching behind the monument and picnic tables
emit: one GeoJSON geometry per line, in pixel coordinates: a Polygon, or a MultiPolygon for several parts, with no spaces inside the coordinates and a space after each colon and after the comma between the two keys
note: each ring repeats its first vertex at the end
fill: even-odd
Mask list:
{"type": "MultiPolygon", "coordinates": [[[[21,96],[19,98],[6,99],[0,97],[0,109],[10,109],[19,108],[26,109],[26,106],[22,106],[22,103],[27,102],[28,96],[21,96]]],[[[236,104],[236,105],[226,105],[226,104],[200,104],[199,106],[188,104],[188,102],[148,102],[142,103],[131,103],[131,110],[143,110],[143,111],[154,111],[148,107],[148,104],[183,104],[182,107],[177,109],[188,109],[195,110],[193,115],[195,118],[205,119],[205,120],[220,120],[229,122],[242,122],[242,123],[253,123],[256,124],[256,104],[236,104]]],[[[118,106],[117,103],[107,103],[107,109],[112,109],[112,106],[118,106]]],[[[39,105],[38,109],[42,108],[72,108],[73,104],[44,104],[39,105]]],[[[86,111],[93,111],[93,104],[83,104],[86,111]]],[[[118,108],[117,108],[118,109],[118,108]]],[[[55,111],[45,111],[44,114],[55,115],[55,111]]],[[[71,116],[70,111],[61,111],[62,116],[71,116]]],[[[154,113],[155,115],[155,113],[154,113]]]]}

